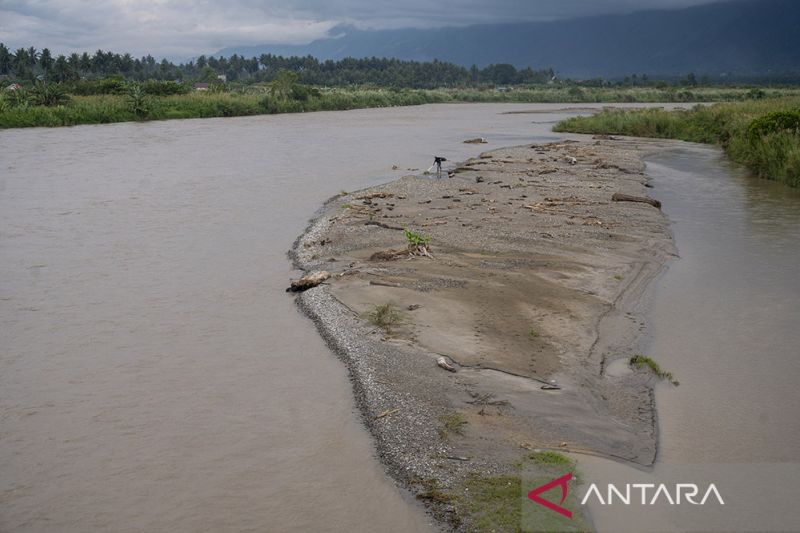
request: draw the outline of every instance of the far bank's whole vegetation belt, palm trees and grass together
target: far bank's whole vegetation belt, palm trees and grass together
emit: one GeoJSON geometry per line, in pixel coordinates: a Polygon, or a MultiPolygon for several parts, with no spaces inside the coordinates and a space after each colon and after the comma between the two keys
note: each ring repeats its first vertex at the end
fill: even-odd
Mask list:
{"type": "MultiPolygon", "coordinates": [[[[707,80],[705,80],[707,82],[707,80]]],[[[796,87],[708,85],[633,75],[560,80],[551,68],[442,61],[200,56],[174,64],[98,50],[53,56],[0,43],[0,128],[232,117],[443,102],[633,103],[746,101],[796,87]]]]}

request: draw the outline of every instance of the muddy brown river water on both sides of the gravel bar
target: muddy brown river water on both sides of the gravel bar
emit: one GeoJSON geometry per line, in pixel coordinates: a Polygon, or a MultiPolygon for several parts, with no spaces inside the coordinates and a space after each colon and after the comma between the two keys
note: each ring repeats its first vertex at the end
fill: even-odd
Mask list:
{"type": "MultiPolygon", "coordinates": [[[[431,530],[284,294],[286,251],[340,190],[553,139],[563,107],[0,131],[0,531],[431,530]],[[502,114],[523,109],[549,112],[502,114]]],[[[682,383],[657,389],[659,460],[797,463],[800,196],[713,149],[649,172],[682,256],[649,311],[682,383]]]]}

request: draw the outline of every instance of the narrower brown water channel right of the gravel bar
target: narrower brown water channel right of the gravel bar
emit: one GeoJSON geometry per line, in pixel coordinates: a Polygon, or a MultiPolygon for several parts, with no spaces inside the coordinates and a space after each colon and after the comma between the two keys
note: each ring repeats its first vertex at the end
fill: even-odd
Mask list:
{"type": "MultiPolygon", "coordinates": [[[[647,172],[680,254],[654,284],[647,313],[647,354],[680,381],[656,388],[659,454],[650,473],[726,481],[729,500],[719,516],[708,509],[691,520],[680,517],[685,508],[630,514],[594,505],[595,524],[614,532],[796,531],[800,191],[747,175],[716,148],[683,143],[650,158],[647,172]],[[744,486],[758,487],[764,505],[747,507],[759,496],[739,493],[744,486]]],[[[634,473],[580,462],[588,481],[634,473]]]]}

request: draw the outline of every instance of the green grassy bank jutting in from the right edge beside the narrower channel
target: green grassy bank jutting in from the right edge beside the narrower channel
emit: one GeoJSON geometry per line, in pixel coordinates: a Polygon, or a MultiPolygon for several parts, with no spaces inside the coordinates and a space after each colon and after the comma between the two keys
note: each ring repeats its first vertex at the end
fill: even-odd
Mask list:
{"type": "Polygon", "coordinates": [[[606,109],[555,131],[680,139],[721,145],[760,177],[800,187],[800,97],[698,105],[689,110],[606,109]]]}

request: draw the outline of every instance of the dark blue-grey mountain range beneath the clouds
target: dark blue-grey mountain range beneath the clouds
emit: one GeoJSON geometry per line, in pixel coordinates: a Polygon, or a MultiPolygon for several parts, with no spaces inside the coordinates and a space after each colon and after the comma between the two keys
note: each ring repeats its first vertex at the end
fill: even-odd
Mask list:
{"type": "Polygon", "coordinates": [[[216,55],[264,53],[318,59],[439,59],[469,67],[553,67],[561,76],[633,73],[719,76],[800,72],[800,1],[744,0],[554,22],[363,31],[339,27],[308,45],[238,46],[216,55]]]}

